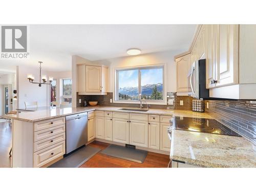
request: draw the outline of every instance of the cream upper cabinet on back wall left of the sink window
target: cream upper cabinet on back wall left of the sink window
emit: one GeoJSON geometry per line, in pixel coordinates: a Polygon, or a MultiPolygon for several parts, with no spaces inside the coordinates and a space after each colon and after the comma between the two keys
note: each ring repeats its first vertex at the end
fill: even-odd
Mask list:
{"type": "Polygon", "coordinates": [[[107,82],[107,67],[77,65],[77,88],[79,95],[105,95],[107,82]]]}

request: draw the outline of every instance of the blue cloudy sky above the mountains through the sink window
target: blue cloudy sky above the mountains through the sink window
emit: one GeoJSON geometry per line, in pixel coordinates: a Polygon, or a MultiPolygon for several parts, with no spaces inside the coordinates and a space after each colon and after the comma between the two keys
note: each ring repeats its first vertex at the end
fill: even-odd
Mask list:
{"type": "MultiPolygon", "coordinates": [[[[144,69],[141,71],[141,86],[163,82],[163,69],[144,69]]],[[[119,88],[138,87],[138,70],[119,71],[119,88]]]]}

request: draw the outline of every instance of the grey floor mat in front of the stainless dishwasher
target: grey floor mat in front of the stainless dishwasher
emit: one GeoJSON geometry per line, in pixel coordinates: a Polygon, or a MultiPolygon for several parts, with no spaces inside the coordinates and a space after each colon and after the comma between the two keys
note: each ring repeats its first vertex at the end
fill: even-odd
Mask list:
{"type": "Polygon", "coordinates": [[[98,147],[84,146],[49,167],[79,167],[96,155],[100,150],[101,149],[98,147]]]}

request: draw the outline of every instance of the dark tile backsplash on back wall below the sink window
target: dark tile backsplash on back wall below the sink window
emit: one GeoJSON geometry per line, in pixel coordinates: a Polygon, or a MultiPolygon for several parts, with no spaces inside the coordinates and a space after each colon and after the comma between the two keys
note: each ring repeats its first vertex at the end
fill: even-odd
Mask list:
{"type": "MultiPolygon", "coordinates": [[[[139,108],[139,104],[129,104],[129,103],[113,103],[110,102],[110,99],[113,99],[113,93],[108,93],[107,95],[78,95],[77,93],[76,106],[83,106],[84,99],[87,100],[87,104],[89,101],[98,101],[98,105],[108,105],[108,106],[120,106],[120,107],[128,107],[128,108],[139,108]],[[79,103],[79,99],[81,99],[81,103],[79,103]]],[[[175,110],[191,110],[192,109],[192,99],[189,96],[176,96],[174,99],[174,105],[160,105],[160,104],[150,104],[150,108],[152,109],[167,109],[167,106],[170,109],[175,110]],[[180,105],[180,100],[183,100],[183,105],[180,105]]],[[[144,105],[144,108],[146,106],[144,105]]]]}

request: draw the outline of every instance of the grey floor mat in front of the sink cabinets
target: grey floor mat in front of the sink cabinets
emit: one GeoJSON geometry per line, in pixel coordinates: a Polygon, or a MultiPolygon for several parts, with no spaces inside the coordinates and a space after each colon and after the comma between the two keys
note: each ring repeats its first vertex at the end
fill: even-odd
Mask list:
{"type": "Polygon", "coordinates": [[[113,144],[106,147],[100,153],[113,156],[113,157],[118,157],[121,159],[126,159],[129,161],[134,161],[137,163],[143,163],[147,156],[147,151],[136,150],[135,148],[113,145],[113,144]]]}

